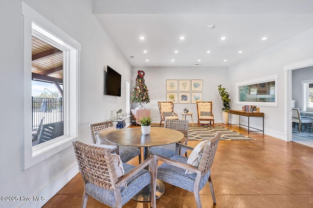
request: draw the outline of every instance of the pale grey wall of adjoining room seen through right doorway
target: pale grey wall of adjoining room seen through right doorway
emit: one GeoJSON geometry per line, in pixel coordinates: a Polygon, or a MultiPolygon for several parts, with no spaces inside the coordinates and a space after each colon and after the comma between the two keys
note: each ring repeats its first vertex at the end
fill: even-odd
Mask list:
{"type": "Polygon", "coordinates": [[[295,107],[300,110],[303,108],[301,81],[310,79],[313,79],[312,66],[292,70],[292,99],[295,100],[295,107]]]}

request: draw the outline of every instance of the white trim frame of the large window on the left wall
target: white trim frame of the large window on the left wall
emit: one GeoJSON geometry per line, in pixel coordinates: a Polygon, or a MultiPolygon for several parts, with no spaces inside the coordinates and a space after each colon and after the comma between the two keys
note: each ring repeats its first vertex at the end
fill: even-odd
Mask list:
{"type": "MultiPolygon", "coordinates": [[[[45,19],[42,15],[21,1],[23,19],[23,170],[65,150],[78,136],[78,72],[80,69],[81,44],[45,19]],[[31,139],[31,36],[32,23],[44,29],[49,38],[57,37],[58,48],[64,49],[64,135],[32,147],[31,139]],[[52,35],[53,34],[53,35],[52,35]],[[70,100],[70,102],[69,102],[70,100]]],[[[44,33],[45,33],[44,32],[44,33]]],[[[36,32],[35,32],[36,33],[36,32]]],[[[40,33],[36,34],[40,36],[40,33]]]]}

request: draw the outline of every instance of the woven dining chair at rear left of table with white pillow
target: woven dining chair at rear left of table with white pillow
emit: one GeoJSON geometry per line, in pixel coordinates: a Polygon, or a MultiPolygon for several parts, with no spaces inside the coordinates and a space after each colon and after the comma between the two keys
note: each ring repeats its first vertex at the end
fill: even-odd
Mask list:
{"type": "MultiPolygon", "coordinates": [[[[115,131],[112,121],[95,123],[89,125],[89,132],[91,136],[91,144],[98,147],[114,149],[117,146],[106,139],[106,135],[115,131]]],[[[141,163],[141,151],[138,147],[118,146],[118,154],[123,163],[138,156],[139,163],[141,163]]]]}

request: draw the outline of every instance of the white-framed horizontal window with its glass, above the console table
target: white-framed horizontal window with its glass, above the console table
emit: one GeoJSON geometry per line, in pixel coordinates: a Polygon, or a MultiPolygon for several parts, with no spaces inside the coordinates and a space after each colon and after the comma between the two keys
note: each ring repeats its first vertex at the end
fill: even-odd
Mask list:
{"type": "Polygon", "coordinates": [[[276,106],[278,75],[236,84],[237,104],[276,106]]]}

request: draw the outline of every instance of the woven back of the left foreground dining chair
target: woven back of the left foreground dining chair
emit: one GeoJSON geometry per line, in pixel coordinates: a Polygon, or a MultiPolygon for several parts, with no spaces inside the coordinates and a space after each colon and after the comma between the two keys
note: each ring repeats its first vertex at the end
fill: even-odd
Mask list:
{"type": "Polygon", "coordinates": [[[90,182],[103,189],[113,190],[118,178],[110,149],[73,142],[78,168],[85,184],[90,182]]]}

